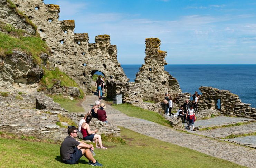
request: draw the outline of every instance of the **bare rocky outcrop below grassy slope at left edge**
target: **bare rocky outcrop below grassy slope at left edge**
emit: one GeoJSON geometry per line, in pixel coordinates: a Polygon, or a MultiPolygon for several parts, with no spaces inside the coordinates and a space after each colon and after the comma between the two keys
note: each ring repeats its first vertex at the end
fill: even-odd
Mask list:
{"type": "Polygon", "coordinates": [[[0,87],[12,87],[13,83],[37,83],[43,75],[41,67],[26,53],[13,50],[0,58],[0,87]]]}

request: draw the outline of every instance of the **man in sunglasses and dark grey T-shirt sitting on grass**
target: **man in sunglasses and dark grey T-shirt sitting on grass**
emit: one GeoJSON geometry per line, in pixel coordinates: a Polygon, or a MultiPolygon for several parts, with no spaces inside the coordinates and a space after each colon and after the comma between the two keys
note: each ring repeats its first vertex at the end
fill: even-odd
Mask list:
{"type": "Polygon", "coordinates": [[[89,160],[89,165],[102,166],[97,160],[93,158],[90,148],[93,145],[86,144],[82,141],[74,139],[77,137],[77,130],[75,126],[68,126],[68,136],[64,139],[60,146],[60,156],[63,163],[75,164],[83,155],[89,160]]]}

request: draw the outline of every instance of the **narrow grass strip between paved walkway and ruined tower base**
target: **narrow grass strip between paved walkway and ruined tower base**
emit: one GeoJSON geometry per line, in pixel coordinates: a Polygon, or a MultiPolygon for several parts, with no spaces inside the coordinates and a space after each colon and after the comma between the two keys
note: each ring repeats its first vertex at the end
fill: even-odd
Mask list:
{"type": "Polygon", "coordinates": [[[141,118],[141,119],[152,121],[164,126],[170,126],[169,121],[165,120],[163,116],[159,115],[154,111],[145,110],[145,109],[133,106],[131,104],[118,104],[118,105],[113,104],[112,107],[130,117],[141,118]]]}

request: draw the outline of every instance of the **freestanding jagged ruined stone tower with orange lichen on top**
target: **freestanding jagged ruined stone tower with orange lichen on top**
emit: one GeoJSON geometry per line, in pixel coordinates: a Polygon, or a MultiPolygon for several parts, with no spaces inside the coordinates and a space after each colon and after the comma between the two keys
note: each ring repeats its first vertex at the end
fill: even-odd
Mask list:
{"type": "Polygon", "coordinates": [[[144,96],[152,93],[181,93],[178,81],[164,70],[167,52],[159,49],[160,44],[158,38],[146,39],[145,64],[139,68],[135,79],[136,83],[141,84],[144,96]]]}

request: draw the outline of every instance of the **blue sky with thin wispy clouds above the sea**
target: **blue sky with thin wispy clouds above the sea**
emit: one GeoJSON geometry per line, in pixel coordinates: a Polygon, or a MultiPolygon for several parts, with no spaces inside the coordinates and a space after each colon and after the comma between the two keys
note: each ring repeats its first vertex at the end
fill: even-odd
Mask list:
{"type": "Polygon", "coordinates": [[[75,33],[108,34],[121,64],[143,64],[159,38],[168,64],[256,64],[255,0],[44,0],[75,33]]]}

